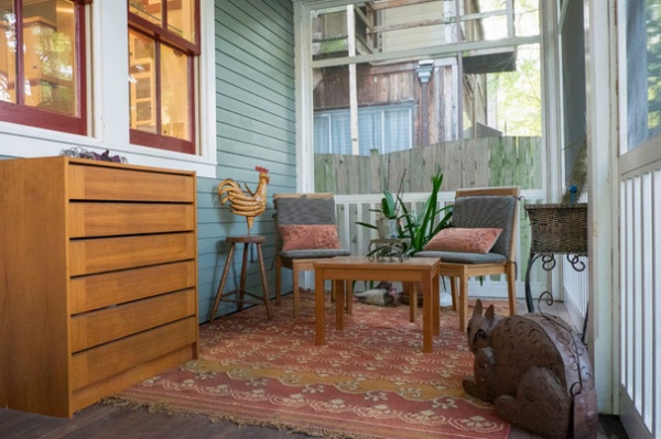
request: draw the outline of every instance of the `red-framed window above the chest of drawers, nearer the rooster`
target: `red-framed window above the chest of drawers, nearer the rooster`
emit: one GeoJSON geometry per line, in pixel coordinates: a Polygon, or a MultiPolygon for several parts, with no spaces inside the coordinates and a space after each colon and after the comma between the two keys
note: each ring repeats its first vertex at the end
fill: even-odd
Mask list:
{"type": "Polygon", "coordinates": [[[131,143],[196,154],[199,0],[128,0],[131,143]]]}

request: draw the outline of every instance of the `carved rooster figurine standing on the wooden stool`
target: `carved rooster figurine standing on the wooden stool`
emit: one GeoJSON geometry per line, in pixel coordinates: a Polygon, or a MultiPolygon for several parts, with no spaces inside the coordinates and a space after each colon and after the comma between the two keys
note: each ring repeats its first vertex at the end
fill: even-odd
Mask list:
{"type": "Polygon", "coordinates": [[[231,178],[225,178],[218,185],[220,204],[224,205],[229,200],[231,212],[246,217],[248,233],[250,233],[254,217],[260,216],[267,209],[269,169],[261,166],[256,166],[254,169],[259,172],[259,183],[254,191],[250,190],[246,183],[243,183],[246,190],[241,189],[241,185],[231,178]]]}

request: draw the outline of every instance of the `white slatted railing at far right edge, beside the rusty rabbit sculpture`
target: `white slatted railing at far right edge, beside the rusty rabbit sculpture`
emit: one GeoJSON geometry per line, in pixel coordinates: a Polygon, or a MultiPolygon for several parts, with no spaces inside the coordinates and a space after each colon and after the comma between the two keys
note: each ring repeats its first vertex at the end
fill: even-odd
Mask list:
{"type": "Polygon", "coordinates": [[[661,160],[644,166],[625,162],[619,255],[621,418],[630,437],[660,437],[661,160]]]}

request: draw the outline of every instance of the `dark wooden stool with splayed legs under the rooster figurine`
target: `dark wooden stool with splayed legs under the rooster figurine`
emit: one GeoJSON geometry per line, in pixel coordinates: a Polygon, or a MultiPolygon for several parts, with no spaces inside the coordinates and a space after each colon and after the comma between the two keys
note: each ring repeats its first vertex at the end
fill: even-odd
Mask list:
{"type": "Polygon", "coordinates": [[[267,307],[267,317],[271,318],[271,309],[269,308],[269,285],[267,284],[267,271],[264,270],[264,260],[261,253],[261,244],[267,241],[264,237],[227,237],[225,240],[229,242],[229,252],[227,253],[227,261],[225,261],[225,268],[223,270],[223,276],[220,277],[220,285],[218,285],[218,290],[216,292],[216,301],[214,303],[214,309],[212,310],[212,316],[209,317],[209,322],[214,321],[216,317],[216,311],[218,310],[218,305],[220,300],[224,301],[234,301],[237,304],[237,311],[241,311],[243,309],[243,304],[264,304],[267,307]],[[241,284],[239,289],[232,289],[231,292],[224,293],[225,283],[227,282],[227,273],[229,272],[229,266],[231,265],[231,261],[234,257],[235,245],[237,243],[243,243],[243,263],[241,265],[241,284]],[[259,271],[262,279],[262,296],[257,296],[252,293],[246,290],[246,271],[248,268],[248,246],[250,244],[256,244],[257,246],[257,256],[259,260],[259,271]],[[236,295],[235,298],[227,298],[227,296],[236,295]],[[246,297],[249,296],[249,297],[246,297]]]}

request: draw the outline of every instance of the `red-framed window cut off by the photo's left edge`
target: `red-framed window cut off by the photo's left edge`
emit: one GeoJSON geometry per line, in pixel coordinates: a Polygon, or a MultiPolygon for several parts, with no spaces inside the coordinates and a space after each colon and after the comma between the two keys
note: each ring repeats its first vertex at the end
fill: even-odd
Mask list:
{"type": "Polygon", "coordinates": [[[87,134],[90,2],[0,0],[0,121],[87,134]]]}

